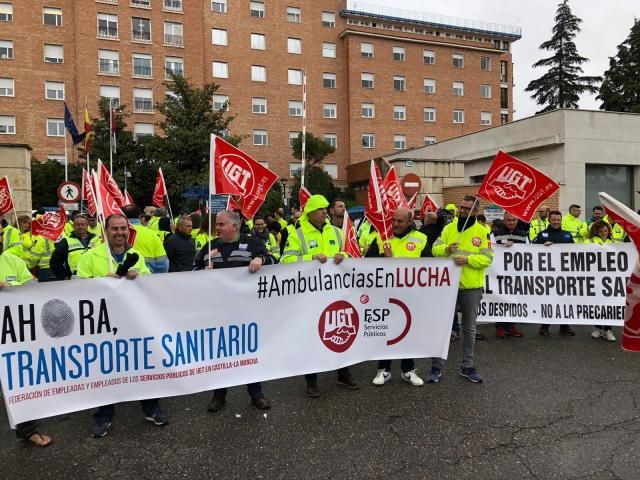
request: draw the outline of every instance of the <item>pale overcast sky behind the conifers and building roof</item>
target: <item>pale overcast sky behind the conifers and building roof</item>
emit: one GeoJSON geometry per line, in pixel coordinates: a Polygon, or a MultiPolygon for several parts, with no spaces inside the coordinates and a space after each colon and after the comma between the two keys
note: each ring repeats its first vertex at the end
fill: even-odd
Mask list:
{"type": "MultiPolygon", "coordinates": [[[[366,0],[372,5],[389,6],[389,0],[366,0]]],[[[531,68],[548,56],[539,45],[551,38],[555,12],[560,0],[396,0],[393,7],[452,17],[468,18],[522,28],[522,38],[513,44],[515,119],[533,115],[538,107],[524,89],[540,77],[544,69],[531,68]]],[[[578,53],[590,61],[583,65],[585,75],[602,75],[609,66],[609,57],[617,53],[633,25],[640,17],[640,0],[571,0],[574,15],[583,20],[582,31],[575,42],[578,53]]],[[[580,108],[597,110],[595,95],[584,95],[580,108]]]]}

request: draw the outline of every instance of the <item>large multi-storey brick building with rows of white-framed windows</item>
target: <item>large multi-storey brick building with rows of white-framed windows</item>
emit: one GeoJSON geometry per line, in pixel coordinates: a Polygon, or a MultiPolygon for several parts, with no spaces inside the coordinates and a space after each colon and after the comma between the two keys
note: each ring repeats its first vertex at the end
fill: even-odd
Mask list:
{"type": "Polygon", "coordinates": [[[81,123],[99,96],[127,105],[136,135],[159,133],[173,70],[219,85],[241,147],[290,177],[304,72],[308,131],[336,147],[324,168],[344,185],[349,165],[511,121],[519,38],[350,0],[0,0],[0,139],[60,160],[62,100],[81,123]]]}

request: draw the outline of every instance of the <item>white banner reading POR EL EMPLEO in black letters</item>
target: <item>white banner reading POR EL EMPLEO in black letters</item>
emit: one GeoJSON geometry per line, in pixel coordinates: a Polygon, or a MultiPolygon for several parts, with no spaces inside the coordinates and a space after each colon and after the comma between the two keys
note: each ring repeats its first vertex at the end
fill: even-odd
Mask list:
{"type": "Polygon", "coordinates": [[[494,252],[478,322],[622,326],[632,244],[497,245],[494,252]]]}

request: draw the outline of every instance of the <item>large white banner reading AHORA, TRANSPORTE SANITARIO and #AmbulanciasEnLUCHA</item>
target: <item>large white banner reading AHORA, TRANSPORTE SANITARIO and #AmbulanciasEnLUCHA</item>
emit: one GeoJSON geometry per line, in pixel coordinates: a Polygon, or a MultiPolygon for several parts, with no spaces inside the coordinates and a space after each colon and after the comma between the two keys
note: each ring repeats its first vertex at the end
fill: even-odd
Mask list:
{"type": "Polygon", "coordinates": [[[9,421],[446,358],[459,278],[449,259],[359,259],[4,288],[9,421]]]}

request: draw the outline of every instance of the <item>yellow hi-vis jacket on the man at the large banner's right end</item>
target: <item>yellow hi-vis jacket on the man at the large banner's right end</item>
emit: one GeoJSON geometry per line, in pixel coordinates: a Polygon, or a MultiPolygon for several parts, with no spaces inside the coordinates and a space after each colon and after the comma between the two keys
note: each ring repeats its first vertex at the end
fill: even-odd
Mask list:
{"type": "Polygon", "coordinates": [[[457,222],[446,225],[431,251],[434,257],[464,255],[468,258],[469,263],[462,266],[461,290],[484,287],[484,271],[493,261],[493,250],[485,228],[477,221],[462,234],[458,232],[457,222]],[[455,253],[449,254],[446,249],[452,243],[458,243],[458,249],[455,253]]]}

